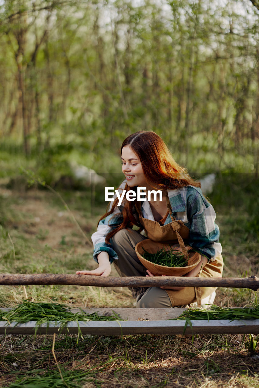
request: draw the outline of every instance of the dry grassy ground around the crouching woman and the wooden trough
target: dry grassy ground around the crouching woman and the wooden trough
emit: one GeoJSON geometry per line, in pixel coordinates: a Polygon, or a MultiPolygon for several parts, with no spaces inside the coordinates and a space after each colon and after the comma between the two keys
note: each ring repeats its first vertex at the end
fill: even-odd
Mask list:
{"type": "MultiPolygon", "coordinates": [[[[90,216],[89,201],[84,195],[73,193],[65,199],[89,237],[98,217],[90,216]]],[[[53,194],[21,193],[0,187],[0,197],[1,272],[75,273],[78,269],[95,267],[92,248],[82,241],[63,204],[53,194]]],[[[224,239],[227,233],[224,218],[220,223],[224,239]]],[[[248,250],[247,242],[238,236],[235,238],[235,244],[233,241],[226,244],[224,276],[240,276],[245,271],[256,273],[257,247],[250,244],[248,250]],[[245,252],[242,257],[240,251],[245,252]]],[[[116,275],[114,269],[112,274],[116,275]]],[[[76,307],[134,307],[130,291],[122,288],[26,286],[26,292],[28,299],[35,302],[55,301],[76,307]]],[[[215,303],[243,306],[253,301],[255,295],[246,289],[218,289],[215,303]]],[[[0,286],[0,307],[12,307],[23,299],[22,287],[0,286]]],[[[25,381],[29,384],[31,378],[27,386],[40,388],[40,380],[59,378],[60,369],[67,383],[63,384],[61,378],[59,383],[51,380],[53,387],[257,388],[259,360],[247,354],[245,341],[247,336],[243,335],[196,336],[193,342],[192,338],[167,335],[128,335],[83,336],[76,343],[76,336],[61,335],[54,344],[56,363],[53,336],[1,336],[0,386],[8,387],[23,378],[25,387],[25,381]]]]}

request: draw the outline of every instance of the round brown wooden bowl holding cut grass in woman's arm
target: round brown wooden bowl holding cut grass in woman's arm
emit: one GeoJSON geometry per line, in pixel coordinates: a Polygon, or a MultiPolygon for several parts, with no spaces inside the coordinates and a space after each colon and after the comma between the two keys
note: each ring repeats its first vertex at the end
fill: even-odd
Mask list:
{"type": "MultiPolygon", "coordinates": [[[[173,244],[170,244],[171,246],[173,244]]],[[[164,265],[159,265],[155,263],[151,263],[148,260],[144,259],[142,256],[144,253],[143,248],[149,253],[156,253],[159,249],[165,248],[167,251],[171,249],[169,244],[163,242],[157,242],[150,239],[145,239],[140,241],[135,246],[135,250],[137,253],[137,257],[140,262],[144,265],[146,269],[148,269],[151,274],[155,276],[167,275],[167,276],[182,276],[190,272],[196,265],[200,263],[202,257],[198,252],[190,252],[188,265],[186,267],[166,267],[164,265]]],[[[179,246],[180,248],[180,246],[179,246]]],[[[189,245],[186,245],[186,249],[191,248],[189,245]]],[[[179,249],[181,251],[181,248],[179,249]]]]}

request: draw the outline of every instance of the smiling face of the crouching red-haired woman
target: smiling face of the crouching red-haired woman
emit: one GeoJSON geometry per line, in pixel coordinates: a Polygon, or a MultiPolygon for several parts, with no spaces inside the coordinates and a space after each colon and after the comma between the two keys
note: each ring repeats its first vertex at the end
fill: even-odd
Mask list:
{"type": "Polygon", "coordinates": [[[146,187],[148,185],[141,162],[129,145],[125,145],[122,149],[122,172],[127,179],[128,186],[146,187]]]}

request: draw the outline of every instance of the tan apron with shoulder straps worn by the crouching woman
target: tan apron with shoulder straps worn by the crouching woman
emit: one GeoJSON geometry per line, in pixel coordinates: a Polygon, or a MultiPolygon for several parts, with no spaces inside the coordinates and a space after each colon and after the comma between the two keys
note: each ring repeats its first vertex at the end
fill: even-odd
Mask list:
{"type": "MultiPolygon", "coordinates": [[[[167,194],[167,193],[166,193],[167,194]]],[[[176,220],[172,217],[172,208],[170,205],[169,197],[167,195],[167,209],[172,222],[167,223],[166,225],[160,225],[159,222],[148,220],[143,218],[141,210],[136,206],[136,210],[139,214],[139,220],[143,225],[143,228],[146,232],[146,236],[153,241],[163,241],[171,243],[179,243],[180,246],[183,245],[182,241],[185,240],[185,243],[188,244],[189,237],[189,228],[184,225],[183,221],[176,220]],[[178,235],[178,236],[177,236],[178,235]],[[182,237],[179,238],[179,235],[182,237]]],[[[137,203],[139,205],[139,203],[137,203]]],[[[196,276],[199,277],[222,277],[223,270],[223,259],[221,255],[216,256],[214,262],[208,262],[200,273],[196,276]]],[[[183,290],[165,290],[170,298],[172,306],[181,306],[188,305],[197,301],[198,306],[201,305],[203,298],[206,298],[213,293],[217,288],[216,287],[195,287],[195,295],[193,293],[193,287],[185,287],[183,290]]]]}

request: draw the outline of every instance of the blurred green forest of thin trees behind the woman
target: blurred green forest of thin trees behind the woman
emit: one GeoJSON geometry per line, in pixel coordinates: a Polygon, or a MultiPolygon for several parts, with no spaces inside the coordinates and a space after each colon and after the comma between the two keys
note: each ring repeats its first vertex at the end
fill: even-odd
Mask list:
{"type": "Polygon", "coordinates": [[[0,1],[0,177],[120,171],[154,130],[193,172],[259,171],[257,0],[0,1]]]}

